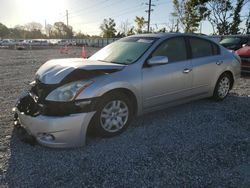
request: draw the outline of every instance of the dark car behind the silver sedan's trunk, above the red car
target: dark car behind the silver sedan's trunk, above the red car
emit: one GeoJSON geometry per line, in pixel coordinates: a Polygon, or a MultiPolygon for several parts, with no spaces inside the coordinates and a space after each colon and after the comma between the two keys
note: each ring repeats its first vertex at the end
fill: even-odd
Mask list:
{"type": "Polygon", "coordinates": [[[220,44],[229,50],[238,50],[243,45],[250,42],[250,36],[226,37],[220,41],[220,44]]]}

